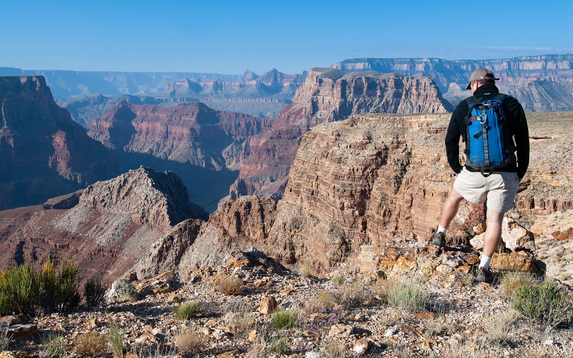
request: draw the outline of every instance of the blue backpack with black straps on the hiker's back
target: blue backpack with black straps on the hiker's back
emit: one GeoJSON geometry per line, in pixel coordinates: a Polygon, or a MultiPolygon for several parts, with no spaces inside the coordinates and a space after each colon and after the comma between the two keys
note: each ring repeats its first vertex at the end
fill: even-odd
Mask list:
{"type": "Polygon", "coordinates": [[[466,99],[469,105],[464,141],[466,166],[486,176],[513,163],[515,144],[509,137],[501,99],[511,97],[500,93],[492,100],[466,99]]]}

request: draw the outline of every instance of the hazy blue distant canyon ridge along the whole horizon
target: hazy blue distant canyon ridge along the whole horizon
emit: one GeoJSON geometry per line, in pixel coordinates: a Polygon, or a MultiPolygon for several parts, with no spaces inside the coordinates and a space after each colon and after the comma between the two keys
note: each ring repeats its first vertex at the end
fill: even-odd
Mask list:
{"type": "MultiPolygon", "coordinates": [[[[517,97],[526,111],[573,110],[573,55],[548,54],[500,60],[441,58],[354,58],[331,65],[345,72],[375,71],[408,77],[432,77],[453,106],[469,96],[465,85],[478,67],[490,68],[500,90],[517,97]]],[[[262,75],[198,72],[96,72],[22,70],[0,67],[0,75],[41,75],[58,104],[89,129],[92,120],[120,100],[166,107],[201,101],[219,111],[277,117],[292,103],[308,72],[286,74],[271,69],[262,75]]]]}

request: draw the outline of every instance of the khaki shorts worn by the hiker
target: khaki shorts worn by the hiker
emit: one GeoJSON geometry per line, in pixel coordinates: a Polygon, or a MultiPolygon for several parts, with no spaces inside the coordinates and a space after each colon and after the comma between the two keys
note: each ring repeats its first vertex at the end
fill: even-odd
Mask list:
{"type": "Polygon", "coordinates": [[[475,204],[486,201],[488,209],[505,213],[513,207],[519,179],[517,173],[494,171],[488,176],[470,172],[464,167],[454,182],[454,189],[475,204]]]}

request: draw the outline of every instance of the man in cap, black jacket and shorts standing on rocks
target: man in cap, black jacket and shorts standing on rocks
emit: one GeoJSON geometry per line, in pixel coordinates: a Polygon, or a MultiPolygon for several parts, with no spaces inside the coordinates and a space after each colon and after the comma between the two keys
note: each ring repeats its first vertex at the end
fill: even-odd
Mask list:
{"type": "Polygon", "coordinates": [[[462,199],[476,204],[486,202],[488,225],[476,272],[478,282],[490,276],[489,263],[501,241],[504,213],[513,207],[517,185],[529,164],[529,133],[523,107],[515,98],[499,93],[495,81],[499,78],[490,70],[476,69],[466,87],[473,96],[454,109],[446,134],[446,154],[458,176],[432,238],[434,245],[445,245],[445,233],[462,199]],[[460,165],[460,136],[465,143],[465,166],[460,165]]]}

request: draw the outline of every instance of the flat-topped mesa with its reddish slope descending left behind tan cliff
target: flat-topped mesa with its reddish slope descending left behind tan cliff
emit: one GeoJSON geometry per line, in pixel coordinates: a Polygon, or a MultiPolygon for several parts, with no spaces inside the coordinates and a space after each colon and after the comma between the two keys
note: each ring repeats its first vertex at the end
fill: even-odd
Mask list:
{"type": "Polygon", "coordinates": [[[312,68],[293,104],[279,113],[270,131],[245,144],[246,159],[230,198],[250,194],[280,198],[301,136],[316,124],[362,113],[445,113],[451,109],[431,78],[312,68]]]}

